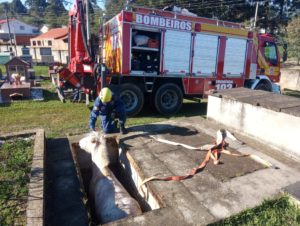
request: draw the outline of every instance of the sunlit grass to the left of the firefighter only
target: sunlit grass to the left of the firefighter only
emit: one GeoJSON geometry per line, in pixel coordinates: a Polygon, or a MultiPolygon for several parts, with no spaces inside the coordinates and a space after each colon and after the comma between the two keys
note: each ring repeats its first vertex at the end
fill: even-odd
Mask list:
{"type": "Polygon", "coordinates": [[[85,132],[89,110],[84,104],[63,104],[58,100],[19,101],[2,106],[0,118],[3,133],[43,128],[47,137],[62,137],[85,132]]]}

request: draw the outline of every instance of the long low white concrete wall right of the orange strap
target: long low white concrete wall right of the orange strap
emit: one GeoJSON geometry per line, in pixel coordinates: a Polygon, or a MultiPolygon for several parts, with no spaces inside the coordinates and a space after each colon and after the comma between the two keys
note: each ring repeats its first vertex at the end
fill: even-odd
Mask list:
{"type": "MultiPolygon", "coordinates": [[[[274,94],[264,94],[264,99],[266,99],[265,95],[274,94]]],[[[256,105],[259,105],[259,98],[262,96],[255,97],[250,94],[250,97],[258,99],[256,105]]],[[[245,96],[243,98],[245,99],[245,96]]],[[[256,105],[227,98],[222,94],[221,97],[209,96],[207,118],[223,124],[225,128],[234,129],[300,159],[300,117],[256,105]]],[[[299,108],[298,112],[300,112],[300,107],[288,108],[299,108]]]]}

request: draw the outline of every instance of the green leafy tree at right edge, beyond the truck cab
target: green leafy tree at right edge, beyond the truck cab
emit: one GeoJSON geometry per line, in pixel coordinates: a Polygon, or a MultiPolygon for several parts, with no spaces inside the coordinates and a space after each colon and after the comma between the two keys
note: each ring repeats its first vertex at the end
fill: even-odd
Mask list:
{"type": "Polygon", "coordinates": [[[297,64],[300,63],[300,16],[294,17],[287,26],[289,44],[289,56],[296,58],[297,64]]]}

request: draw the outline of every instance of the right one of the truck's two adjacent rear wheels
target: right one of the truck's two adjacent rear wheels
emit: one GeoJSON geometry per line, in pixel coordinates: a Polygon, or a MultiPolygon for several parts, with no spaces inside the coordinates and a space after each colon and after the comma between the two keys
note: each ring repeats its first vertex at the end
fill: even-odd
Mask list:
{"type": "Polygon", "coordinates": [[[182,91],[178,85],[166,83],[155,94],[156,110],[163,115],[175,114],[182,105],[182,91]]]}

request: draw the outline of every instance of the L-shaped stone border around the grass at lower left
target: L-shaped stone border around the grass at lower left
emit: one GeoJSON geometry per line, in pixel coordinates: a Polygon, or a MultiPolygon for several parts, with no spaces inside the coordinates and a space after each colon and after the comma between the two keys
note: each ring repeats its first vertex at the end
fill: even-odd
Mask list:
{"type": "Polygon", "coordinates": [[[27,130],[23,132],[0,135],[2,139],[16,137],[28,137],[35,135],[34,149],[28,184],[28,200],[26,208],[27,225],[44,225],[44,154],[45,154],[45,131],[43,129],[27,130]]]}

